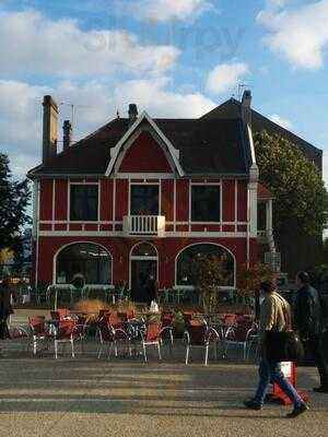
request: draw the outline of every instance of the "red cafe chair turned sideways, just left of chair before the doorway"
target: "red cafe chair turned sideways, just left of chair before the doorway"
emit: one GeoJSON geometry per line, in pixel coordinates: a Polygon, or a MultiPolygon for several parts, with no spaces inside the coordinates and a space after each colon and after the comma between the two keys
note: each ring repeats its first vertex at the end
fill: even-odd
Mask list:
{"type": "Polygon", "coordinates": [[[103,316],[103,318],[98,320],[97,336],[99,339],[99,349],[97,354],[98,358],[101,358],[102,356],[103,347],[105,344],[107,344],[108,347],[107,357],[108,358],[110,357],[113,347],[115,356],[117,357],[118,343],[127,343],[129,349],[129,355],[132,356],[131,339],[129,334],[126,332],[126,330],[121,328],[118,327],[115,328],[115,326],[110,323],[110,317],[108,317],[107,315],[103,316]]]}

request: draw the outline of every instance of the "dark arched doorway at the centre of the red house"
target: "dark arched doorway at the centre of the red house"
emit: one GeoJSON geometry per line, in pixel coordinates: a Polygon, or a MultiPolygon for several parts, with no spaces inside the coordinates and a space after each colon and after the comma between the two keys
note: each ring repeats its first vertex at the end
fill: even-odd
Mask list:
{"type": "Polygon", "coordinates": [[[157,280],[159,253],[150,243],[140,243],[130,253],[130,290],[134,302],[148,302],[148,283],[157,280]]]}

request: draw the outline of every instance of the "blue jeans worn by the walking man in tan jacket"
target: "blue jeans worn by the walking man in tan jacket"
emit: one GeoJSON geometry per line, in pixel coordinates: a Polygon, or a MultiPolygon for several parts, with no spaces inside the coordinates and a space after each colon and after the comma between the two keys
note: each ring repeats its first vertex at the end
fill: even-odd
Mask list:
{"type": "Polygon", "coordinates": [[[259,365],[259,382],[254,400],[261,405],[265,403],[269,383],[278,383],[282,391],[290,398],[295,406],[303,403],[302,398],[281,371],[280,363],[262,359],[259,365]]]}

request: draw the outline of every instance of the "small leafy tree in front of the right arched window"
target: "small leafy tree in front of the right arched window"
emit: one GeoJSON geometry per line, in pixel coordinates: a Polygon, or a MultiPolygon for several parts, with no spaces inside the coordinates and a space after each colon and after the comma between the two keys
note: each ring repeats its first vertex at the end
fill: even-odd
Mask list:
{"type": "Polygon", "coordinates": [[[212,312],[218,305],[218,287],[227,284],[225,260],[199,256],[192,265],[192,282],[201,295],[204,312],[212,312]]]}

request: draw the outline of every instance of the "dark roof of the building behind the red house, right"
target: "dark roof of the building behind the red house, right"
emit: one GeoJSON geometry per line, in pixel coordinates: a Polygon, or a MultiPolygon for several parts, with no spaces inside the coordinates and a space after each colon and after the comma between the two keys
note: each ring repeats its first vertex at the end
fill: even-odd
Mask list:
{"type": "MultiPolygon", "coordinates": [[[[227,119],[227,118],[236,118],[241,117],[241,102],[235,98],[231,98],[224,102],[222,105],[212,109],[210,113],[203,115],[201,117],[204,119],[227,119]]],[[[288,141],[295,144],[297,147],[302,150],[305,156],[314,161],[316,166],[321,169],[323,168],[323,151],[315,147],[313,144],[297,137],[295,133],[284,129],[282,126],[277,125],[269,118],[262,116],[256,110],[251,109],[251,129],[253,132],[261,132],[266,130],[270,134],[279,134],[288,141]]]]}

